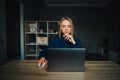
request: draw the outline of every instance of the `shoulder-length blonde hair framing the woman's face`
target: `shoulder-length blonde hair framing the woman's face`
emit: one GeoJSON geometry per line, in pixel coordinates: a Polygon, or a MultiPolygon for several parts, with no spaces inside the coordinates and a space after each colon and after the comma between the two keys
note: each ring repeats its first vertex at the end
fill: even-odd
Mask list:
{"type": "Polygon", "coordinates": [[[73,21],[72,19],[70,19],[69,17],[62,17],[61,20],[59,21],[59,31],[58,31],[58,34],[59,34],[59,38],[61,38],[62,36],[62,31],[61,31],[61,23],[64,21],[64,20],[67,20],[70,22],[71,24],[71,35],[74,37],[75,36],[75,33],[74,33],[74,25],[73,25],[73,21]]]}

